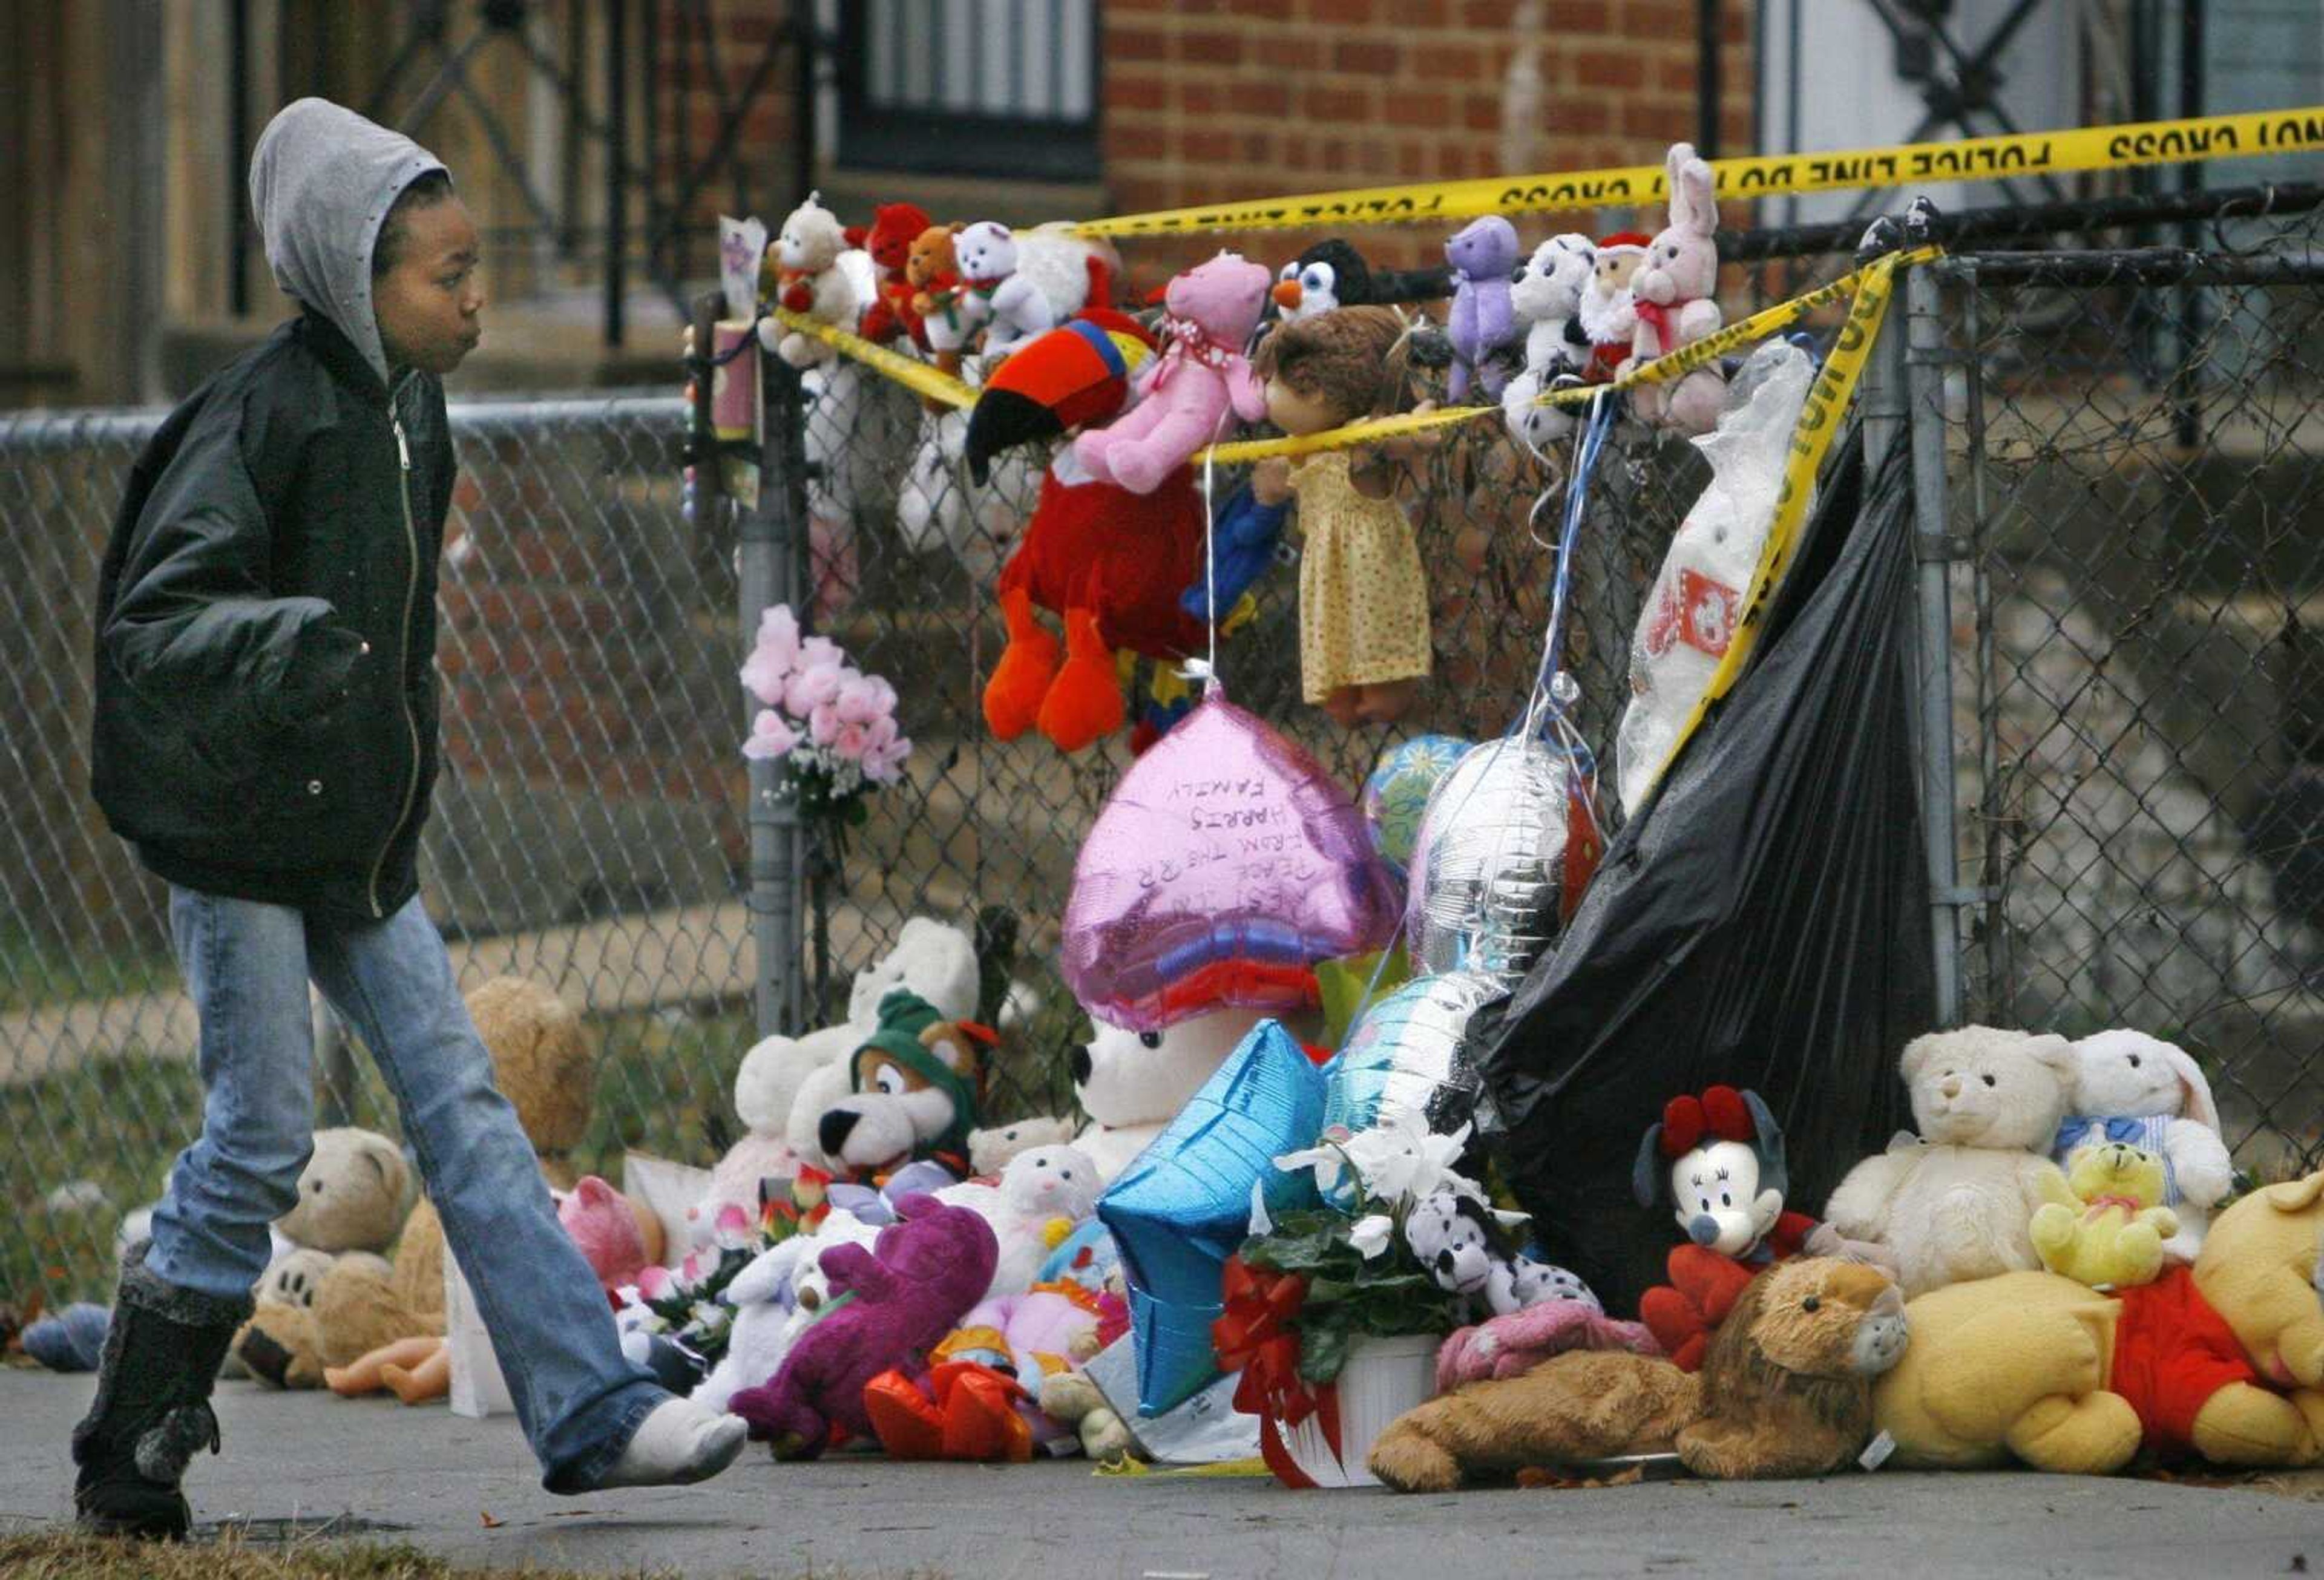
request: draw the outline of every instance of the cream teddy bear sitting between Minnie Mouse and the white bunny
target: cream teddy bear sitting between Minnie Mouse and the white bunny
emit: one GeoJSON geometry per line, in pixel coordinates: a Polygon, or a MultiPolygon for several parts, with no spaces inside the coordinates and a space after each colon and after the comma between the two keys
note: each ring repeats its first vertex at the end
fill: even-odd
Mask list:
{"type": "Polygon", "coordinates": [[[2047,1152],[2073,1090],[2073,1043],[1961,1027],[1915,1036],[1899,1064],[1920,1139],[1899,1136],[1850,1169],[1824,1220],[1887,1245],[1906,1299],[2038,1269],[2027,1224],[2066,1190],[2047,1152]]]}

